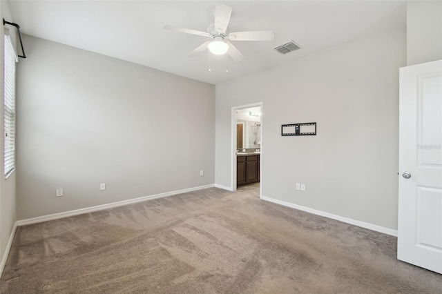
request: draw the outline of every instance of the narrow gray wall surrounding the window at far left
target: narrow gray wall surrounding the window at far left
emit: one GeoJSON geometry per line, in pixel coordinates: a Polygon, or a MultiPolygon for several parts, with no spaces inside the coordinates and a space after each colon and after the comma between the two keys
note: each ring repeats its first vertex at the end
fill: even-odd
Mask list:
{"type": "MultiPolygon", "coordinates": [[[[13,21],[10,16],[10,11],[8,7],[8,2],[0,1],[0,19],[6,19],[6,21],[13,21]]],[[[3,60],[4,60],[4,38],[3,38],[3,26],[0,26],[0,81],[3,81],[3,60]]],[[[15,33],[15,28],[8,26],[10,29],[11,36],[15,33]]],[[[0,95],[1,95],[1,109],[0,111],[0,129],[4,130],[3,126],[3,82],[0,83],[0,95]]],[[[3,153],[4,153],[4,144],[3,144],[3,136],[0,136],[0,260],[3,259],[3,256],[6,253],[6,246],[8,245],[10,235],[12,233],[12,228],[14,228],[15,222],[17,220],[16,217],[16,202],[15,202],[15,177],[16,173],[12,173],[8,179],[4,177],[3,170],[3,153]]]]}

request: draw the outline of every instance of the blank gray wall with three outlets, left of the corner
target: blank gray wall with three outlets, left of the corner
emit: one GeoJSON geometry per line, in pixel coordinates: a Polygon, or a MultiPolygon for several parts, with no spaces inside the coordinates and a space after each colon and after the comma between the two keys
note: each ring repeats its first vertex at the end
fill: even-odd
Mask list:
{"type": "Polygon", "coordinates": [[[24,43],[17,219],[214,183],[213,85],[44,39],[24,43]]]}

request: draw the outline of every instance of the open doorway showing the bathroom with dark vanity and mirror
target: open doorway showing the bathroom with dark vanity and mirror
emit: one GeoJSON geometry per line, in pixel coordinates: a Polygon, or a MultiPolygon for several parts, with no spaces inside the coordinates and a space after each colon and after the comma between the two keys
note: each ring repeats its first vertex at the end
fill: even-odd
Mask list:
{"type": "Polygon", "coordinates": [[[232,188],[262,197],[262,102],[232,107],[232,188]]]}

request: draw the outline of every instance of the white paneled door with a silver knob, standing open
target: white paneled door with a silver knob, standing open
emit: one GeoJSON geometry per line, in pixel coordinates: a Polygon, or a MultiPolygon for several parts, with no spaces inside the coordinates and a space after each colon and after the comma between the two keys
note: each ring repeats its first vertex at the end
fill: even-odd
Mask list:
{"type": "Polygon", "coordinates": [[[400,69],[398,259],[442,273],[442,60],[400,69]]]}

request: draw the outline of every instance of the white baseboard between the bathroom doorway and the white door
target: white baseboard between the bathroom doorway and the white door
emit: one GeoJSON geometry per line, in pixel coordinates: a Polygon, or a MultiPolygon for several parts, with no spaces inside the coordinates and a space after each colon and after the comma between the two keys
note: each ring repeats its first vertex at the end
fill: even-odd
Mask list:
{"type": "Polygon", "coordinates": [[[383,226],[378,226],[376,224],[369,224],[367,222],[361,222],[361,221],[358,221],[356,219],[349,219],[347,217],[340,217],[339,215],[334,215],[332,213],[326,213],[325,211],[316,210],[316,209],[308,208],[308,207],[305,207],[305,206],[300,206],[300,205],[297,205],[297,204],[281,201],[281,200],[278,200],[278,199],[273,199],[273,198],[266,197],[266,196],[262,196],[261,199],[262,200],[266,200],[268,202],[273,202],[273,203],[276,203],[276,204],[280,204],[282,206],[288,206],[290,208],[295,208],[295,209],[298,209],[298,210],[307,211],[307,213],[313,213],[314,215],[320,215],[322,217],[328,217],[330,219],[336,219],[336,220],[338,220],[340,222],[345,222],[347,224],[353,224],[354,226],[361,226],[362,228],[368,228],[369,230],[380,232],[380,233],[384,233],[384,234],[387,234],[387,235],[392,235],[394,237],[398,236],[398,231],[397,230],[393,230],[392,228],[385,228],[383,226]]]}

